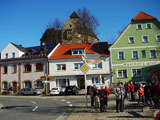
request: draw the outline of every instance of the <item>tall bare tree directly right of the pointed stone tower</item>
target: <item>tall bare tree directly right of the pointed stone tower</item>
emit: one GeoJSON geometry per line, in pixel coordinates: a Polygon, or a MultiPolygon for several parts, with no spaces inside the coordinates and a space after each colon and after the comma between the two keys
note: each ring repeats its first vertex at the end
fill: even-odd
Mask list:
{"type": "Polygon", "coordinates": [[[98,20],[95,16],[91,15],[90,11],[86,8],[78,9],[77,14],[80,18],[80,25],[82,33],[97,35],[96,28],[99,26],[98,20]]]}

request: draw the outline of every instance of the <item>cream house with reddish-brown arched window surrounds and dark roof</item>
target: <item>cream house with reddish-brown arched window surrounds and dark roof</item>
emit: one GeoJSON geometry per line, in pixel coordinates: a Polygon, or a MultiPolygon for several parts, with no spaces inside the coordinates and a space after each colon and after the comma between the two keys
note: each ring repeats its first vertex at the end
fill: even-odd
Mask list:
{"type": "MultiPolygon", "coordinates": [[[[48,54],[56,45],[24,48],[25,53],[19,57],[0,60],[0,92],[10,87],[13,93],[19,93],[22,88],[43,89],[41,76],[48,73],[48,54]]],[[[10,46],[4,48],[8,52],[10,46]]],[[[5,51],[6,50],[6,51],[5,51]]],[[[16,53],[16,51],[12,50],[16,53]]]]}

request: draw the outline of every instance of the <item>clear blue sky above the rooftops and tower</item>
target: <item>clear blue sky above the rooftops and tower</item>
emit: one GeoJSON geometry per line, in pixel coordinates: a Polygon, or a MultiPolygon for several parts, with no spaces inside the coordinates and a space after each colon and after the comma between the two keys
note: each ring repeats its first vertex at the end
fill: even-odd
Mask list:
{"type": "Polygon", "coordinates": [[[100,41],[113,43],[139,11],[160,20],[160,0],[0,0],[0,51],[9,43],[40,45],[46,25],[87,8],[100,26],[100,41]]]}

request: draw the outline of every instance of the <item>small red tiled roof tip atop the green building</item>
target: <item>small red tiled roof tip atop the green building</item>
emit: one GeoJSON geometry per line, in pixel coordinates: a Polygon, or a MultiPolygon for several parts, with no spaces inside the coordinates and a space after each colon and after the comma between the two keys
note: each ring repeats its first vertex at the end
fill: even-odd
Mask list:
{"type": "Polygon", "coordinates": [[[156,18],[140,11],[132,20],[149,20],[149,19],[156,19],[156,18]]]}

